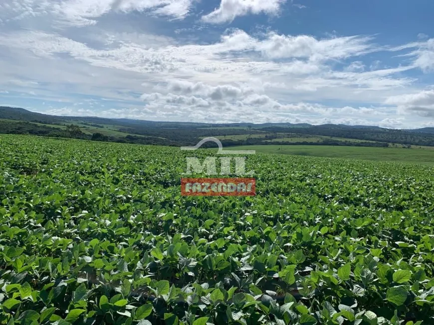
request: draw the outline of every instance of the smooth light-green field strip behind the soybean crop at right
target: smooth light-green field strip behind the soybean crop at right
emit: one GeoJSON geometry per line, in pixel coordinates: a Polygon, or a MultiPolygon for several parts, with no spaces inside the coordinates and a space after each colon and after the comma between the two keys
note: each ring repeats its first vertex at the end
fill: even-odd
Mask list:
{"type": "Polygon", "coordinates": [[[366,159],[378,161],[414,162],[434,164],[434,150],[426,148],[376,148],[352,146],[315,146],[315,145],[258,145],[235,146],[227,150],[256,150],[260,153],[285,155],[316,156],[345,159],[366,159]]]}

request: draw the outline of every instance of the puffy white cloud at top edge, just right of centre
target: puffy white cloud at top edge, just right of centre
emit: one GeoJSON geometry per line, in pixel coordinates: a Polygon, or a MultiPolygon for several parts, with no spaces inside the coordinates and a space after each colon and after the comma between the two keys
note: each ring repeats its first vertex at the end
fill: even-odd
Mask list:
{"type": "Polygon", "coordinates": [[[275,15],[286,0],[221,0],[218,8],[202,17],[209,23],[225,23],[233,21],[237,16],[261,12],[275,15]]]}

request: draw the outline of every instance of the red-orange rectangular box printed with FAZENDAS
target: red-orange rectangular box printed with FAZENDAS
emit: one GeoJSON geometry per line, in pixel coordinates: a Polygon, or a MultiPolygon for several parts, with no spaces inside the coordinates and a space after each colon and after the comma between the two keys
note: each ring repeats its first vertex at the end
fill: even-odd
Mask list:
{"type": "Polygon", "coordinates": [[[183,196],[254,196],[256,180],[254,178],[182,178],[183,196]]]}

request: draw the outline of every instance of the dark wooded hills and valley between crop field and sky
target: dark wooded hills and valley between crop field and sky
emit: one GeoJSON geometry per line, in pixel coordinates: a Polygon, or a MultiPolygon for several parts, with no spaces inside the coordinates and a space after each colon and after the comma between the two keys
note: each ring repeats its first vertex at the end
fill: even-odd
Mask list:
{"type": "Polygon", "coordinates": [[[434,127],[399,130],[344,124],[165,122],[96,116],[55,116],[10,107],[0,107],[0,119],[0,133],[80,137],[141,144],[194,145],[202,138],[214,136],[221,139],[224,146],[434,146],[434,127]]]}

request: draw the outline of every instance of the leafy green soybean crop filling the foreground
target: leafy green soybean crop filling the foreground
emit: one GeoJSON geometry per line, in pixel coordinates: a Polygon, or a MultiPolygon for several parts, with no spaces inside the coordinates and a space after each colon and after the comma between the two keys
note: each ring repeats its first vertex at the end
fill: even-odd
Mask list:
{"type": "Polygon", "coordinates": [[[0,324],[434,324],[434,168],[258,153],[255,197],[182,197],[187,154],[0,135],[0,324]]]}

